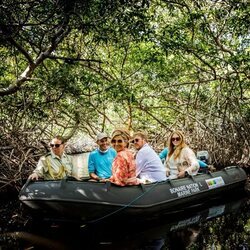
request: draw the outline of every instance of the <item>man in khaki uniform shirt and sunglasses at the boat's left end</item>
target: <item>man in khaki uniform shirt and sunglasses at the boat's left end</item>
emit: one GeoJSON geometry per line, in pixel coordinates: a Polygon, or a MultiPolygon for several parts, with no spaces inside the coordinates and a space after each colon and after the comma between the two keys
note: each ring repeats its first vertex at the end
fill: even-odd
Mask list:
{"type": "Polygon", "coordinates": [[[57,180],[71,175],[73,165],[71,157],[64,153],[65,142],[65,138],[61,136],[55,136],[51,140],[49,144],[50,153],[39,159],[37,167],[29,176],[29,179],[57,180]]]}

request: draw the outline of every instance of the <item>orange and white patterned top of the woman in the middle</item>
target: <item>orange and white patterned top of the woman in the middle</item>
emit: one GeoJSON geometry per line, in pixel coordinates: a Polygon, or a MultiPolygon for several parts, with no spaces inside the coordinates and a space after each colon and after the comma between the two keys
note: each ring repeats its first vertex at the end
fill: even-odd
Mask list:
{"type": "Polygon", "coordinates": [[[112,164],[110,181],[119,186],[139,184],[139,180],[136,178],[135,159],[128,149],[117,153],[112,164]]]}

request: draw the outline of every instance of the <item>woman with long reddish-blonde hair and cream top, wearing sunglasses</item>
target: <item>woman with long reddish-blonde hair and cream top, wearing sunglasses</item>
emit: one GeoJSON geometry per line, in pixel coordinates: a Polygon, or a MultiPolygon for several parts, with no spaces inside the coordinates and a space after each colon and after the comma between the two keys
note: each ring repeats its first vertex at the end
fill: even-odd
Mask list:
{"type": "Polygon", "coordinates": [[[169,179],[196,175],[199,170],[199,163],[193,150],[185,143],[182,132],[179,130],[172,132],[168,144],[169,152],[166,167],[169,179]]]}

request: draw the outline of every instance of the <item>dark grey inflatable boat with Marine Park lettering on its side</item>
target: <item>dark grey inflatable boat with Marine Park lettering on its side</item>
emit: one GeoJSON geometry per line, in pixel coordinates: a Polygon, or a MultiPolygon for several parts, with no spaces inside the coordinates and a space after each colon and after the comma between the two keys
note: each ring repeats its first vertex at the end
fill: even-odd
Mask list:
{"type": "Polygon", "coordinates": [[[19,200],[39,217],[86,223],[116,218],[155,216],[193,207],[211,199],[244,190],[245,171],[238,166],[220,171],[138,186],[117,186],[66,177],[62,180],[28,180],[19,200]]]}

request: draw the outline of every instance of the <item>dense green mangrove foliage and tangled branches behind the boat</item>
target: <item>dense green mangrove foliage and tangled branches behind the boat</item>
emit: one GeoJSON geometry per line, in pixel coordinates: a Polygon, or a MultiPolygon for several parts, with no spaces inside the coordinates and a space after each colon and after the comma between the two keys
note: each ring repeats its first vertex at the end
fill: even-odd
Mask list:
{"type": "Polygon", "coordinates": [[[1,1],[0,182],[26,176],[54,134],[118,126],[146,130],[157,150],[180,128],[213,164],[249,165],[249,8],[1,1]]]}

